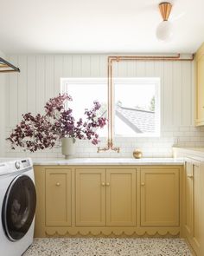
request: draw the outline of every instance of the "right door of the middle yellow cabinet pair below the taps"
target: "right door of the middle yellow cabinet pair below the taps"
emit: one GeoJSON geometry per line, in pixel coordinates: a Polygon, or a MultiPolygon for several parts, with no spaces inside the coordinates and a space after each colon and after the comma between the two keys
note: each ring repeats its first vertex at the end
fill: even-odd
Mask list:
{"type": "Polygon", "coordinates": [[[106,170],[106,225],[136,225],[136,170],[106,170]]]}

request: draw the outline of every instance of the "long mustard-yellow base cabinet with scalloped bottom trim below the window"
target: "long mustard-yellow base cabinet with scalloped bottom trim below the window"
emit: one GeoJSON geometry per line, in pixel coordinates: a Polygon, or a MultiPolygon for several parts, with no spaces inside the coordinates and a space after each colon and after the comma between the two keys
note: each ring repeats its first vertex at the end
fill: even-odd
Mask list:
{"type": "Polygon", "coordinates": [[[35,166],[35,237],[180,233],[181,166],[35,166]]]}

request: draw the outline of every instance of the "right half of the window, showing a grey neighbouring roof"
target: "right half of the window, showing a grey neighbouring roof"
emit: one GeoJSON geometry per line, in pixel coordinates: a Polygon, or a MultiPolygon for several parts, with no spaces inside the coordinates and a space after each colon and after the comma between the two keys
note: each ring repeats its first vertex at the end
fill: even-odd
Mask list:
{"type": "Polygon", "coordinates": [[[158,78],[114,79],[115,136],[160,135],[158,78]]]}

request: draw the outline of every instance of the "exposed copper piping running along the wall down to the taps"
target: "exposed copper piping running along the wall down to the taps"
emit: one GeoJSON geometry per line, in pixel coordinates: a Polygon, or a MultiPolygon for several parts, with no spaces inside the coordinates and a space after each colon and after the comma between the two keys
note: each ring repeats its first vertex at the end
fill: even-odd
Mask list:
{"type": "Polygon", "coordinates": [[[107,76],[108,76],[108,141],[107,147],[99,148],[98,153],[101,151],[113,150],[119,153],[120,148],[113,146],[113,131],[112,131],[112,64],[113,62],[121,62],[121,61],[165,61],[165,62],[192,62],[194,61],[194,55],[191,58],[181,58],[180,54],[176,56],[108,56],[107,58],[107,76]]]}

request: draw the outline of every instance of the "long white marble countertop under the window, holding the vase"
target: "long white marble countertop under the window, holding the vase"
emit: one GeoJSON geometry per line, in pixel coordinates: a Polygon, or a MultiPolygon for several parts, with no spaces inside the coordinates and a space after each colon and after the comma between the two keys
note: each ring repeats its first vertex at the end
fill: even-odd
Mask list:
{"type": "Polygon", "coordinates": [[[34,165],[183,165],[182,158],[73,158],[35,159],[34,165]]]}

